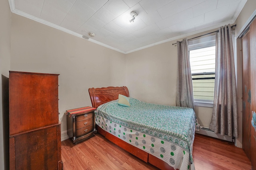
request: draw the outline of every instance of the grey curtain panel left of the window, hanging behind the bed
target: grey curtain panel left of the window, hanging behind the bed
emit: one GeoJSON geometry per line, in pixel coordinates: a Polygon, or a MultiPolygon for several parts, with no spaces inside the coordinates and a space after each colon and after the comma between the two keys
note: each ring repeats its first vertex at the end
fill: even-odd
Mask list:
{"type": "Polygon", "coordinates": [[[191,107],[194,109],[194,97],[190,61],[188,53],[188,40],[177,41],[178,71],[176,86],[176,106],[191,107]]]}

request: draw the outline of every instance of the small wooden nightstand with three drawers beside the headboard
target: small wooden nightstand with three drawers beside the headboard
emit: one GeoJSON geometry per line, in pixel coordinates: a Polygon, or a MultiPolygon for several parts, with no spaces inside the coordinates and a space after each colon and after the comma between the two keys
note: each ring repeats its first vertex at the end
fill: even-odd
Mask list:
{"type": "Polygon", "coordinates": [[[96,133],[94,107],[67,110],[68,136],[77,144],[96,133]]]}

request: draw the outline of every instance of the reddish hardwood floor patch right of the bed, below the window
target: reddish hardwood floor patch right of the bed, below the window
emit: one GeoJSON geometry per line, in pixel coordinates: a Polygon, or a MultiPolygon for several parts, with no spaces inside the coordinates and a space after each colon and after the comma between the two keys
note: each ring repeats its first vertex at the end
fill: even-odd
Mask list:
{"type": "Polygon", "coordinates": [[[251,170],[244,150],[234,143],[196,134],[193,145],[196,170],[251,170]]]}

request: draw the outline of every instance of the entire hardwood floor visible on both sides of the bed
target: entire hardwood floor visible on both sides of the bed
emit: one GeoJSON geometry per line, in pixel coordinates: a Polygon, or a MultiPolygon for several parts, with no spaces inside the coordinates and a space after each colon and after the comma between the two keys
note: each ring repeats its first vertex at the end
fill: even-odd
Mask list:
{"type": "MultiPolygon", "coordinates": [[[[61,148],[64,170],[158,170],[99,133],[77,145],[67,139],[61,148]]],[[[200,134],[194,140],[193,158],[196,170],[251,170],[242,149],[200,134]]]]}

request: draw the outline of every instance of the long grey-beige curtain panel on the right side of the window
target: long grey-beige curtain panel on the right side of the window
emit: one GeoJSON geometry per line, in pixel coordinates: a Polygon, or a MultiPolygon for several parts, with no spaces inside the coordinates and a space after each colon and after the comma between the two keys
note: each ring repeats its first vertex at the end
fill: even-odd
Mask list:
{"type": "Polygon", "coordinates": [[[238,137],[236,74],[230,24],[216,34],[216,66],[212,120],[209,129],[238,137]]]}

